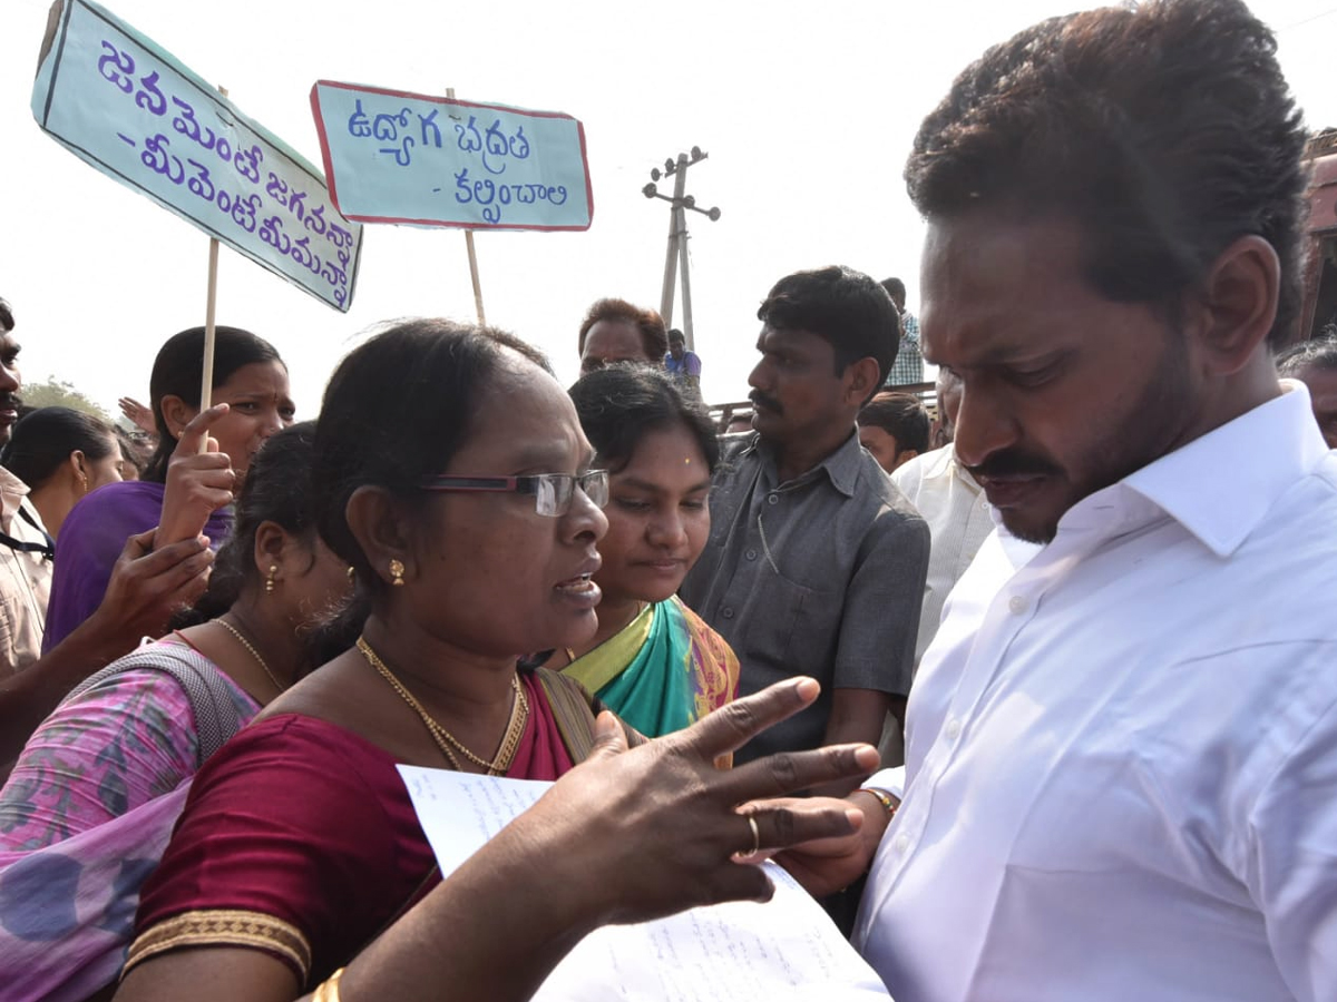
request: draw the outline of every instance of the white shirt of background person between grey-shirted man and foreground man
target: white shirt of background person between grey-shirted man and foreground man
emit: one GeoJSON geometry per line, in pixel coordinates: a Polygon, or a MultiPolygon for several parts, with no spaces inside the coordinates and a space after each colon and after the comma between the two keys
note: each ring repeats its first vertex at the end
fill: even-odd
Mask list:
{"type": "Polygon", "coordinates": [[[892,482],[924,516],[932,538],[915,643],[917,668],[937,633],[948,593],[993,532],[993,517],[984,489],[956,461],[951,445],[902,462],[892,470],[892,482]]]}

